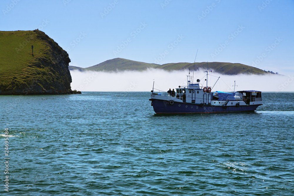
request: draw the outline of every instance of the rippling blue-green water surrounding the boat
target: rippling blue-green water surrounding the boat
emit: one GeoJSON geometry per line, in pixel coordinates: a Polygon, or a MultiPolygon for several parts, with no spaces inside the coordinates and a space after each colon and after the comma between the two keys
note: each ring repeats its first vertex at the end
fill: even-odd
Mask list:
{"type": "Polygon", "coordinates": [[[0,96],[1,195],[294,195],[294,93],[156,115],[148,92],[0,96]]]}

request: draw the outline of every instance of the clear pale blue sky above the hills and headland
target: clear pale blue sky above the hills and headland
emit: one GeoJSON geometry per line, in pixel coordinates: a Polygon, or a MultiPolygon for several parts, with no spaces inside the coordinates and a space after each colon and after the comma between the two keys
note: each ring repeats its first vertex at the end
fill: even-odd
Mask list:
{"type": "Polygon", "coordinates": [[[39,28],[73,66],[194,62],[198,49],[196,62],[294,71],[293,0],[2,0],[0,8],[1,31],[39,28]]]}

